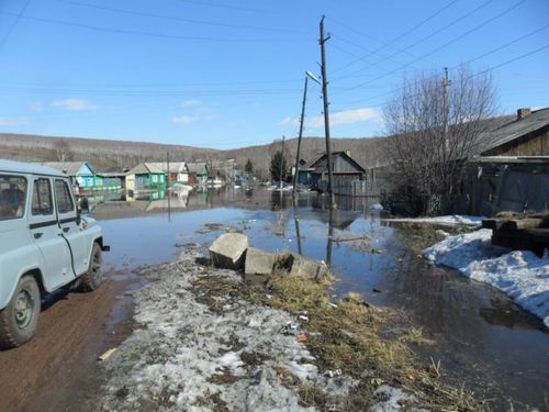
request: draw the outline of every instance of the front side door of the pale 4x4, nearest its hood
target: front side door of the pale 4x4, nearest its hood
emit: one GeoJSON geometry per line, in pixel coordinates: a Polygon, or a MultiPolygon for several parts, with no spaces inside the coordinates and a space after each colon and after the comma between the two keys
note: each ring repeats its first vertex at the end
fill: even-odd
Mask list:
{"type": "Polygon", "coordinates": [[[76,202],[69,183],[65,179],[55,179],[55,203],[59,218],[59,226],[63,236],[70,245],[75,271],[79,276],[88,269],[91,244],[87,245],[85,233],[82,233],[80,225],[77,224],[76,202]]]}

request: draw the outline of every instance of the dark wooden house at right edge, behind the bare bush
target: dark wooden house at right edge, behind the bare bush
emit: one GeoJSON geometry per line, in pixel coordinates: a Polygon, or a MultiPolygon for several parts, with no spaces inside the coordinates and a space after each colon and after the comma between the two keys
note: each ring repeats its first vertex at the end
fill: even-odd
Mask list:
{"type": "Polygon", "coordinates": [[[549,210],[549,108],[519,109],[515,120],[482,134],[470,163],[469,213],[549,210]]]}

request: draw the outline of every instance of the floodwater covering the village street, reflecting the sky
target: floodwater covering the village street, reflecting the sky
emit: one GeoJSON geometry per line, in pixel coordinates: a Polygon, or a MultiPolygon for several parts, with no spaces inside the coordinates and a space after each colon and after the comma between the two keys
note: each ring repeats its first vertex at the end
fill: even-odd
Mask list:
{"type": "Polygon", "coordinates": [[[403,309],[437,341],[416,350],[440,360],[455,385],[475,390],[496,410],[549,410],[549,333],[541,321],[497,290],[412,253],[406,232],[369,212],[368,200],[338,198],[332,218],[325,197],[300,194],[298,208],[291,204],[291,194],[262,188],[217,189],[108,200],[94,215],[112,247],[105,254],[111,271],[170,260],[186,243],[212,242],[222,232],[199,231],[206,223],[245,231],[255,247],[329,261],[340,279],[336,294],[357,291],[374,304],[403,309]]]}

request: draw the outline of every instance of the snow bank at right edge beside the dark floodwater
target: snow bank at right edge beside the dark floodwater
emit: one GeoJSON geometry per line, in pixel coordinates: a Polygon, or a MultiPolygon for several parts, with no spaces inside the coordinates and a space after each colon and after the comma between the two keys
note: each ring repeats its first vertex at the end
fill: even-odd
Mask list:
{"type": "Polygon", "coordinates": [[[496,287],[549,327],[549,253],[509,252],[491,244],[492,231],[450,236],[423,250],[428,260],[459,269],[464,276],[496,287]]]}

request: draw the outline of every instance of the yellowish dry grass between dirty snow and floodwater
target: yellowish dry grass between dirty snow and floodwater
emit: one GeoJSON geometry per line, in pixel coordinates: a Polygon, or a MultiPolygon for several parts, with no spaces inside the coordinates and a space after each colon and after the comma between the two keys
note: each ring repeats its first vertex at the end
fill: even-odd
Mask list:
{"type": "MultiPolygon", "coordinates": [[[[417,327],[396,338],[383,337],[400,314],[372,307],[357,293],[350,293],[334,308],[329,304],[329,285],[274,276],[269,281],[269,304],[291,313],[309,312],[307,347],[321,370],[340,369],[360,379],[346,399],[348,410],[363,410],[373,402],[372,393],[381,383],[401,387],[413,393],[423,408],[433,411],[482,411],[485,405],[463,388],[444,382],[440,365],[423,365],[407,344],[432,345],[434,341],[417,327]]],[[[324,409],[326,397],[315,388],[301,387],[305,405],[324,409]]]]}

